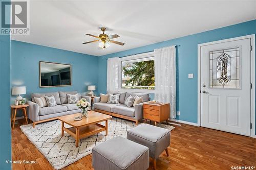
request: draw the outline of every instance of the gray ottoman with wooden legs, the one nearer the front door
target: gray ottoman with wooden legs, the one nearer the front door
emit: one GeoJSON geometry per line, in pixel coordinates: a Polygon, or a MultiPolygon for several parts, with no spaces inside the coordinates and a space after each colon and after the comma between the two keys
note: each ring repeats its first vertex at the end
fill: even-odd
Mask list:
{"type": "Polygon", "coordinates": [[[150,149],[150,157],[154,159],[156,169],[156,159],[165,150],[168,154],[170,145],[170,130],[159,128],[153,125],[142,124],[127,131],[127,139],[140,143],[150,149]]]}

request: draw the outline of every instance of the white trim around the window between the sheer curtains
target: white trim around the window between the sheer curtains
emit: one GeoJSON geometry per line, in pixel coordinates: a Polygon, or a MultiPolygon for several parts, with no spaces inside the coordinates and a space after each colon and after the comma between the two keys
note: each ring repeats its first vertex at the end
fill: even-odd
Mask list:
{"type": "Polygon", "coordinates": [[[122,61],[147,61],[154,59],[154,52],[142,53],[137,55],[131,55],[127,57],[119,58],[119,73],[118,73],[118,91],[127,91],[127,92],[142,92],[142,93],[155,93],[155,90],[148,89],[122,89],[122,61]],[[144,60],[143,60],[144,59],[144,60]]]}

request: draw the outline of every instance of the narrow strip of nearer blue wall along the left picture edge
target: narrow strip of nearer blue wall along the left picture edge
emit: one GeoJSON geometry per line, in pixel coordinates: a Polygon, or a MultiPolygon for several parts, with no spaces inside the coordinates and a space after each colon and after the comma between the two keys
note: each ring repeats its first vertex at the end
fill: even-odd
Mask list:
{"type": "MultiPolygon", "coordinates": [[[[0,1],[0,3],[2,0],[0,1]]],[[[10,125],[10,36],[0,36],[0,169],[11,169],[11,125],[10,125]]]]}

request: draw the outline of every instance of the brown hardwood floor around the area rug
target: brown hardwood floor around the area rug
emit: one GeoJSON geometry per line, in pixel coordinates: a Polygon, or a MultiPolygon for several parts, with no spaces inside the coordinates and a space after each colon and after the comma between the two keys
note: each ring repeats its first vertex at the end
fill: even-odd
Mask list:
{"type": "MultiPolygon", "coordinates": [[[[13,169],[53,169],[48,160],[19,129],[23,123],[25,120],[18,120],[12,130],[12,160],[36,160],[37,164],[13,164],[13,169]]],[[[171,132],[169,157],[163,152],[157,159],[157,169],[256,167],[255,138],[185,124],[175,127],[171,132]]],[[[88,155],[63,169],[93,169],[91,160],[92,156],[88,155]]],[[[152,163],[149,169],[153,169],[152,163]]]]}

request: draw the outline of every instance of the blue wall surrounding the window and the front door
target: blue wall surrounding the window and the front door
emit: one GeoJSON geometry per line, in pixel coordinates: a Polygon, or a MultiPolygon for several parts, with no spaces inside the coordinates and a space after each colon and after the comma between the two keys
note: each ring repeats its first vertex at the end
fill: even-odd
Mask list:
{"type": "Polygon", "coordinates": [[[131,50],[99,57],[99,93],[106,92],[106,59],[152,51],[168,45],[181,45],[177,49],[177,119],[197,123],[197,46],[200,43],[256,34],[256,20],[239,23],[216,30],[206,31],[181,38],[146,45],[131,50]],[[194,78],[188,79],[193,73],[194,78]]]}

